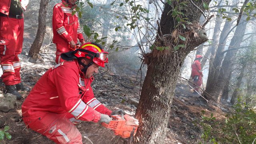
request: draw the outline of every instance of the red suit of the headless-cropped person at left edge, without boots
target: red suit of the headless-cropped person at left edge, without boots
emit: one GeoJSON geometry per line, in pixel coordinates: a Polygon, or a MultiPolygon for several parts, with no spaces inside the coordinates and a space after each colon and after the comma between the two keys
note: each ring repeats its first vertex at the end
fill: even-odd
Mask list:
{"type": "MultiPolygon", "coordinates": [[[[26,10],[28,0],[20,0],[21,6],[26,10]]],[[[0,0],[0,59],[3,74],[2,81],[6,86],[19,84],[20,59],[18,54],[22,52],[24,19],[9,17],[11,0],[0,0]]]]}

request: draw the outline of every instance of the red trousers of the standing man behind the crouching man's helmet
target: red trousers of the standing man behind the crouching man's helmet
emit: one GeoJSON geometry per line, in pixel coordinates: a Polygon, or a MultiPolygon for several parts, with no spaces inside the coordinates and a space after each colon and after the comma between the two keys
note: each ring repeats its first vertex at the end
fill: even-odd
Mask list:
{"type": "Polygon", "coordinates": [[[60,54],[65,53],[65,52],[70,52],[70,48],[68,48],[68,42],[66,43],[56,43],[56,59],[55,62],[59,64],[60,62],[63,62],[62,58],[60,58],[60,54]]]}

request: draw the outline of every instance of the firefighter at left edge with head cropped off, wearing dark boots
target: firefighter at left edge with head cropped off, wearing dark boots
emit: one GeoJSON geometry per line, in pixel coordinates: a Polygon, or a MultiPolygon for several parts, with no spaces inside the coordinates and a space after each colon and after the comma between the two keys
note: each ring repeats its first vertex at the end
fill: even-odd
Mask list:
{"type": "Polygon", "coordinates": [[[3,74],[2,82],[6,92],[14,94],[17,99],[22,96],[18,90],[29,91],[30,88],[21,83],[20,59],[22,52],[24,19],[28,0],[0,0],[0,59],[3,74]]]}

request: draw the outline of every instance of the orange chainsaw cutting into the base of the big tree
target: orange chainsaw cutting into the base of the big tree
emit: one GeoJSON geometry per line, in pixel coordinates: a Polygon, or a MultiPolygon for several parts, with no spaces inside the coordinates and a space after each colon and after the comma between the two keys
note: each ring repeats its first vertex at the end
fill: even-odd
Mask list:
{"type": "Polygon", "coordinates": [[[138,120],[127,114],[112,115],[111,118],[112,120],[109,122],[109,124],[104,122],[101,124],[106,128],[112,129],[115,135],[119,135],[122,138],[130,138],[130,136],[135,136],[139,126],[138,120]]]}

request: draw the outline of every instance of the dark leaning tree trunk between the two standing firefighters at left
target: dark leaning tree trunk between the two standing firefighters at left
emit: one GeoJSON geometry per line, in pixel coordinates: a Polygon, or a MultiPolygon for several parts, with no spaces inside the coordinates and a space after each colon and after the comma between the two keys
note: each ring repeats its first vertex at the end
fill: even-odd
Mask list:
{"type": "Polygon", "coordinates": [[[31,45],[31,48],[28,52],[28,55],[32,57],[34,61],[37,60],[40,48],[44,41],[44,34],[46,32],[46,13],[47,13],[47,6],[49,0],[41,0],[40,1],[40,8],[39,8],[39,15],[38,15],[38,30],[36,33],[36,38],[31,45]]]}

